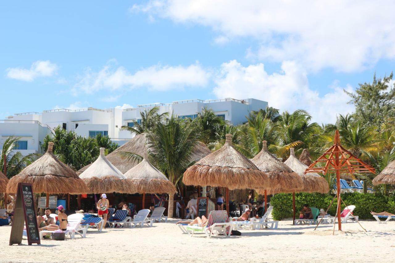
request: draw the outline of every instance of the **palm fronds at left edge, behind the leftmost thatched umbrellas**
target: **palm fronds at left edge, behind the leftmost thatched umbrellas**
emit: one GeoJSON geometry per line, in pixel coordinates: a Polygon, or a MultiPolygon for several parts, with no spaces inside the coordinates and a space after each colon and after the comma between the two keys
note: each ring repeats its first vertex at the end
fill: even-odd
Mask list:
{"type": "Polygon", "coordinates": [[[6,162],[7,177],[11,178],[20,173],[24,167],[34,162],[40,154],[27,154],[23,156],[21,152],[16,151],[15,147],[21,137],[9,136],[4,141],[3,149],[0,156],[0,170],[4,173],[4,161],[6,162]]]}

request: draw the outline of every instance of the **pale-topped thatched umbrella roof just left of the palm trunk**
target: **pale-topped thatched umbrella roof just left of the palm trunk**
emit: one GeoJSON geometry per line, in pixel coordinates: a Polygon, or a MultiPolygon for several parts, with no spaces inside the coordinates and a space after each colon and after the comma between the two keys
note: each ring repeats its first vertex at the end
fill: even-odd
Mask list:
{"type": "Polygon", "coordinates": [[[177,193],[174,184],[148,161],[147,154],[124,176],[134,183],[137,193],[177,193]]]}

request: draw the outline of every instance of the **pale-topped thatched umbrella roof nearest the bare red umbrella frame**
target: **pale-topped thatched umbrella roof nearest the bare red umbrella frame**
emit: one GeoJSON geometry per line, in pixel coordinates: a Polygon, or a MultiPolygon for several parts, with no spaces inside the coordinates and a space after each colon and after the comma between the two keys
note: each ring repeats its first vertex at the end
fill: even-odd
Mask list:
{"type": "Polygon", "coordinates": [[[306,192],[306,193],[328,193],[329,185],[324,177],[321,177],[318,173],[307,173],[305,170],[308,167],[299,161],[295,156],[295,151],[293,148],[290,149],[291,154],[290,157],[284,162],[288,167],[292,169],[295,173],[300,175],[303,181],[303,188],[297,192],[306,192]]]}

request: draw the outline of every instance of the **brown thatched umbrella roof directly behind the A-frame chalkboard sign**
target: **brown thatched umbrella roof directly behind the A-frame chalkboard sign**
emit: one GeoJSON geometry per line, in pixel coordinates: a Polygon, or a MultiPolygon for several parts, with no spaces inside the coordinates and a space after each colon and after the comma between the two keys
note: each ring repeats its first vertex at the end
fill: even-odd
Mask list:
{"type": "Polygon", "coordinates": [[[16,193],[18,183],[24,182],[32,184],[35,193],[86,193],[87,186],[83,180],[75,171],[58,160],[52,150],[53,143],[50,142],[43,156],[9,179],[7,192],[16,193]]]}

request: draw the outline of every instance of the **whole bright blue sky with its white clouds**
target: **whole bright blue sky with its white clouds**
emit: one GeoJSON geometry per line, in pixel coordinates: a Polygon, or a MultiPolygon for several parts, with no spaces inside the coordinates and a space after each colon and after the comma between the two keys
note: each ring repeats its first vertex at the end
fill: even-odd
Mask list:
{"type": "Polygon", "coordinates": [[[233,97],[333,122],[393,70],[393,6],[284,3],[2,2],[0,118],[233,97]]]}

